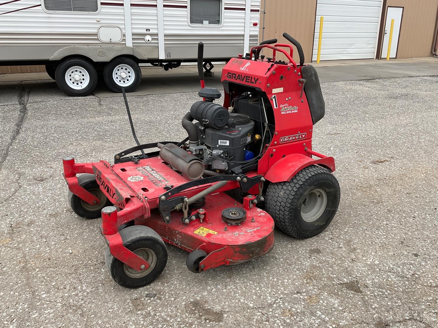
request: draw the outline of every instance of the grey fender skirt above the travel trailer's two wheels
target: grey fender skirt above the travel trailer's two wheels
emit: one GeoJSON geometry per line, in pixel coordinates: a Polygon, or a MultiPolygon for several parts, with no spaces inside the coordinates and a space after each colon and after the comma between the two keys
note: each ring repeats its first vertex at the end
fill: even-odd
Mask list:
{"type": "Polygon", "coordinates": [[[111,59],[130,55],[138,59],[148,59],[143,52],[134,47],[114,46],[114,45],[71,45],[59,49],[49,60],[61,60],[67,56],[80,55],[91,59],[94,62],[109,62],[111,59]]]}

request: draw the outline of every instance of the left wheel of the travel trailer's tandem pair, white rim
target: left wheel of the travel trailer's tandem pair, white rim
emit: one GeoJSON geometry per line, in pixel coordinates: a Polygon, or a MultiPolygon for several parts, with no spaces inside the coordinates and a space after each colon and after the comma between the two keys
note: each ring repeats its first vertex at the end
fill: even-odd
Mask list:
{"type": "Polygon", "coordinates": [[[86,96],[97,85],[96,69],[82,58],[69,58],[61,62],[55,77],[58,87],[69,96],[86,96]]]}

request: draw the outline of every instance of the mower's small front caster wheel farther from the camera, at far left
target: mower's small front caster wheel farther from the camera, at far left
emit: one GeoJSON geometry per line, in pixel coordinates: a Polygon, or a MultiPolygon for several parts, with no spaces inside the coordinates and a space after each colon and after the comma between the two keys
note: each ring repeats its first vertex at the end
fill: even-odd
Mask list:
{"type": "Polygon", "coordinates": [[[105,206],[112,206],[113,204],[106,198],[105,194],[100,190],[99,184],[97,183],[94,174],[82,174],[78,177],[79,185],[88,190],[97,198],[99,198],[99,204],[90,205],[87,202],[80,199],[77,195],[74,195],[70,190],[68,191],[68,202],[70,203],[71,209],[78,216],[85,219],[97,219],[101,216],[101,210],[105,206]]]}

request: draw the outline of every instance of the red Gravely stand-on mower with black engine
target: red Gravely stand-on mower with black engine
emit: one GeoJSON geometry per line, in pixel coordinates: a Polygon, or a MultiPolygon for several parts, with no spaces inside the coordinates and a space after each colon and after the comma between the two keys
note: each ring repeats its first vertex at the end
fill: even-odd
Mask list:
{"type": "Polygon", "coordinates": [[[167,262],[163,241],[188,251],[187,268],[202,272],[266,254],[274,227],[308,238],[332,221],[335,162],[312,150],[313,125],[325,112],[318,75],[304,65],[301,45],[283,36],[300,63],[292,45],[261,42],[223,68],[223,106],[214,102],[221,93],[204,87],[200,42],[204,100],[182,119],[185,140],[140,145],[124,95],[138,146],[114,164],[63,159],[71,208],[86,219],[102,216],[106,266],[119,285],[154,281],[167,262]],[[272,49],[272,58],[261,49],[272,49]],[[276,60],[278,52],[288,62],[276,60]],[[160,150],[145,152],[151,148],[160,150]]]}

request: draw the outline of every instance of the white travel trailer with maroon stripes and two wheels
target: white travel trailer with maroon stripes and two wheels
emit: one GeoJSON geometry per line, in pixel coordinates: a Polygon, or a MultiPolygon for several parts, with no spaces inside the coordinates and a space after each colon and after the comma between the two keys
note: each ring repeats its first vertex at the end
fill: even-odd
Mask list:
{"type": "MultiPolygon", "coordinates": [[[[1,1],[1,0],[0,0],[1,1]]],[[[0,65],[46,65],[69,95],[134,91],[139,63],[165,70],[247,53],[258,41],[260,0],[3,0],[0,65]]]]}

